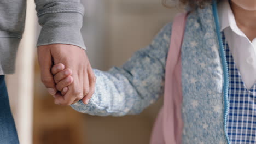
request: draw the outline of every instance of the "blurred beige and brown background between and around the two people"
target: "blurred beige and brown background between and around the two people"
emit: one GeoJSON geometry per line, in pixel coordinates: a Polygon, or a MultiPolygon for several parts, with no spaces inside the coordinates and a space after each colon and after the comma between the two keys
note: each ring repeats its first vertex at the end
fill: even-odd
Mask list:
{"type": "MultiPolygon", "coordinates": [[[[155,34],[181,10],[165,8],[161,0],[81,0],[85,6],[82,33],[93,68],[122,65],[146,47],[155,34]]],[[[15,75],[7,76],[11,110],[21,144],[149,143],[157,103],[141,115],[97,117],[53,103],[40,82],[36,40],[40,31],[34,1],[27,0],[24,37],[15,75]]]]}

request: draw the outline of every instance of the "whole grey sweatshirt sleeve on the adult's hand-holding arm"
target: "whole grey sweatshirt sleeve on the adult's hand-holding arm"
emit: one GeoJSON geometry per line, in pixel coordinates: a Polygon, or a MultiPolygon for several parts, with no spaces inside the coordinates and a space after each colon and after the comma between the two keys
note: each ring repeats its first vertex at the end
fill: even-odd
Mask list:
{"type": "Polygon", "coordinates": [[[37,46],[71,44],[85,49],[80,29],[84,7],[80,0],[34,0],[42,30],[37,46]]]}

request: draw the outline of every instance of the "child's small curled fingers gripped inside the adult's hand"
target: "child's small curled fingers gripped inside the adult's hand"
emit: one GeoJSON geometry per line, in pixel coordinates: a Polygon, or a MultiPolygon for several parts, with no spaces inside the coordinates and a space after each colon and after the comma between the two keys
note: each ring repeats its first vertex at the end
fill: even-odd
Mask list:
{"type": "Polygon", "coordinates": [[[56,83],[56,89],[59,94],[65,95],[68,92],[68,86],[73,82],[72,70],[65,69],[63,64],[55,64],[51,68],[51,73],[54,75],[54,81],[56,83]]]}

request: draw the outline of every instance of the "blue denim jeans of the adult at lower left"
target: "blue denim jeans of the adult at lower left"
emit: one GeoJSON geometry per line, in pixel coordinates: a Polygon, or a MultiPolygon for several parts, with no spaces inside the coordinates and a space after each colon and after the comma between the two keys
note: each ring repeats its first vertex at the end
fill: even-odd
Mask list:
{"type": "Polygon", "coordinates": [[[0,75],[0,143],[18,144],[18,135],[11,115],[4,75],[0,75]]]}

